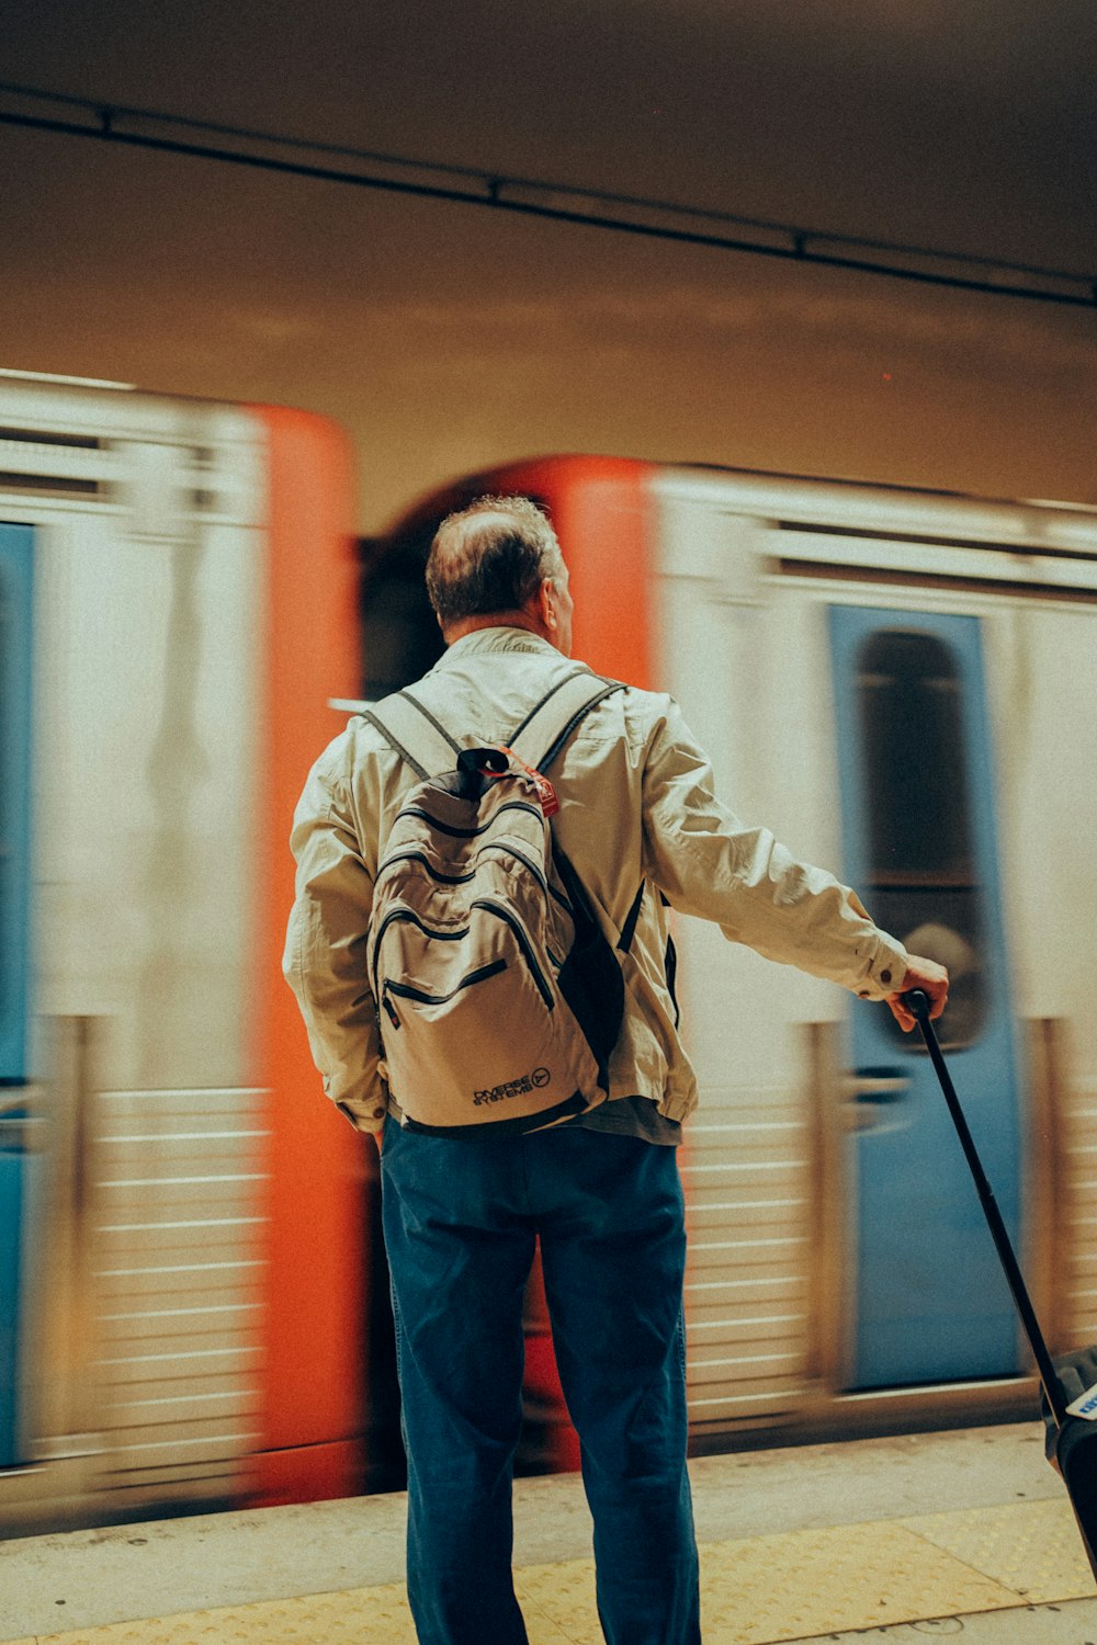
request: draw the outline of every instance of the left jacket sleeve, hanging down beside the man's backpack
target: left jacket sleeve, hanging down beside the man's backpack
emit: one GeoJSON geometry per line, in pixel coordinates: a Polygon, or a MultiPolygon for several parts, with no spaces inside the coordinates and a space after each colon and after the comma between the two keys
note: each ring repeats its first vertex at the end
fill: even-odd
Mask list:
{"type": "Polygon", "coordinates": [[[312,767],[289,844],[298,872],[283,972],[326,1094],[359,1130],[378,1132],[388,1092],[365,966],[373,880],[354,826],[347,732],[312,767]]]}

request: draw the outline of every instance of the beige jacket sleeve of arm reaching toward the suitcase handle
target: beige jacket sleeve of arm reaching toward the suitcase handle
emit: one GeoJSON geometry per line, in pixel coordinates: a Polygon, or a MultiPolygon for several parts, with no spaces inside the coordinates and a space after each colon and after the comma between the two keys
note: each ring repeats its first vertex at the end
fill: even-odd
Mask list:
{"type": "Polygon", "coordinates": [[[903,944],[834,875],[798,862],[768,829],[740,822],[717,799],[712,767],[678,704],[661,702],[643,775],[645,872],[671,906],[862,999],[896,992],[903,944]]]}

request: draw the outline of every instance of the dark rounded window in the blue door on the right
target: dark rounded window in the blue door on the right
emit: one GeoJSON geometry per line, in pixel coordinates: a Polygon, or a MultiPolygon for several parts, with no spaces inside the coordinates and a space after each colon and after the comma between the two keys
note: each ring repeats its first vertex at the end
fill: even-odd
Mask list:
{"type": "MultiPolygon", "coordinates": [[[[987,1013],[982,897],[964,744],[964,678],[936,635],[882,628],[857,668],[873,918],[949,967],[947,1045],[972,1045],[987,1013]]],[[[916,1045],[893,1025],[896,1043],[916,1045]]]]}

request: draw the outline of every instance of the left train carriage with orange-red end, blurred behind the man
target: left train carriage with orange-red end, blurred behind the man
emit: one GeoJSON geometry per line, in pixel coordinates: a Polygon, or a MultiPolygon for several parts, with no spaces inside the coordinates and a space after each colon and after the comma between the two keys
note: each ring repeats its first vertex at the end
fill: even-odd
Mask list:
{"type": "MultiPolygon", "coordinates": [[[[349,632],[311,645],[350,568],[340,452],[304,413],[0,375],[3,1528],[266,1500],[357,1426],[278,1347],[347,1147],[317,1102],[278,1165],[291,795],[349,684],[349,632]]],[[[327,1258],[355,1311],[359,1240],[327,1258]]],[[[319,1375],[336,1405],[360,1380],[319,1375]]]]}

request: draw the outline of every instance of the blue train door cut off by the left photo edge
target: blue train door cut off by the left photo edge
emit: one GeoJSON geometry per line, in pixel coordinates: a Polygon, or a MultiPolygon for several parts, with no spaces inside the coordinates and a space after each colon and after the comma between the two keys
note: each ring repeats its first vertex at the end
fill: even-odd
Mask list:
{"type": "Polygon", "coordinates": [[[28,1267],[23,1107],[30,1015],[30,526],[0,525],[0,1467],[21,1457],[21,1314],[28,1267]]]}

